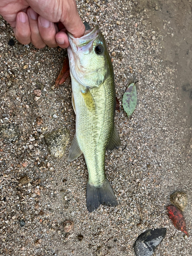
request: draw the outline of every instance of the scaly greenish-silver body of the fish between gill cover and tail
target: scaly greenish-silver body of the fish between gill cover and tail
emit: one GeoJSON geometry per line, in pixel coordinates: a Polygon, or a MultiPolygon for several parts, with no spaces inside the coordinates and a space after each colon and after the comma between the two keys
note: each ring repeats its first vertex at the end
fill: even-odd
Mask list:
{"type": "MultiPolygon", "coordinates": [[[[73,79],[73,78],[72,78],[73,79]]],[[[99,88],[91,90],[96,110],[87,109],[74,80],[72,90],[76,109],[76,136],[89,172],[89,182],[98,186],[105,180],[105,150],[114,128],[113,79],[108,77],[99,88]]]]}

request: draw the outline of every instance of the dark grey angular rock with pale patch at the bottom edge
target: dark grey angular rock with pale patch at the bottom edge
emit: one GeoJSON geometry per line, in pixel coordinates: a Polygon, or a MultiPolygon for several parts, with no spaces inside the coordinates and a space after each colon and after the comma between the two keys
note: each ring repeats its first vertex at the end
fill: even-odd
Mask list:
{"type": "Polygon", "coordinates": [[[134,244],[136,256],[151,256],[166,234],[166,228],[148,229],[140,234],[134,244]]]}

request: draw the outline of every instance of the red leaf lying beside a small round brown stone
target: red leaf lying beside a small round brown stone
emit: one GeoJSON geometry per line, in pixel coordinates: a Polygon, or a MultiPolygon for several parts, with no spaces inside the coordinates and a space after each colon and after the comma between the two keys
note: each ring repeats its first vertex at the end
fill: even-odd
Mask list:
{"type": "Polygon", "coordinates": [[[174,226],[178,230],[184,232],[188,237],[185,219],[182,215],[182,212],[174,205],[167,206],[167,210],[168,210],[168,217],[172,220],[174,226]]]}

